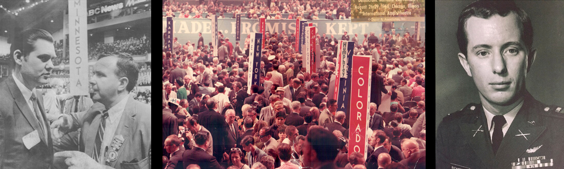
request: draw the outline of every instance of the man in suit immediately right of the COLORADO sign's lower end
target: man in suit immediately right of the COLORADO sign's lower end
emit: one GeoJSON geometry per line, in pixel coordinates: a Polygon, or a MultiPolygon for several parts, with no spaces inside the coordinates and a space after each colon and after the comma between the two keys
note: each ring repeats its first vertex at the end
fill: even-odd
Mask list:
{"type": "Polygon", "coordinates": [[[380,153],[388,153],[388,137],[384,132],[374,131],[370,137],[368,143],[374,147],[374,152],[369,152],[369,156],[366,159],[366,168],[378,168],[378,155],[380,153]]]}

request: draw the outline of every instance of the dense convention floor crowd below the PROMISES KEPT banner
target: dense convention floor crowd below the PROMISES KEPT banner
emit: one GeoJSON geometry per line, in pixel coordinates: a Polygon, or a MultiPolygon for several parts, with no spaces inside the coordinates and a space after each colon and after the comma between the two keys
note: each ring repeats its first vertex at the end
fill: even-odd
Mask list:
{"type": "Polygon", "coordinates": [[[310,74],[293,35],[266,33],[260,82],[250,86],[249,37],[240,45],[220,34],[218,57],[201,34],[197,44],[174,38],[173,51],[162,53],[162,167],[425,166],[425,44],[395,30],[338,39],[373,57],[364,159],[347,148],[348,118],[354,116],[336,111],[337,101],[327,97],[338,42],[329,36],[318,35],[321,65],[310,74]],[[382,93],[390,96],[389,112],[378,109],[382,93]]]}

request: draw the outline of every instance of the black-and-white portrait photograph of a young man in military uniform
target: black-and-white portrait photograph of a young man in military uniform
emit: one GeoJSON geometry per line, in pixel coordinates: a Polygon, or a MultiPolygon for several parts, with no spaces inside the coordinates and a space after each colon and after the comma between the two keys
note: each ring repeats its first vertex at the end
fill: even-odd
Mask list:
{"type": "Polygon", "coordinates": [[[562,168],[561,1],[436,1],[437,168],[562,168]]]}

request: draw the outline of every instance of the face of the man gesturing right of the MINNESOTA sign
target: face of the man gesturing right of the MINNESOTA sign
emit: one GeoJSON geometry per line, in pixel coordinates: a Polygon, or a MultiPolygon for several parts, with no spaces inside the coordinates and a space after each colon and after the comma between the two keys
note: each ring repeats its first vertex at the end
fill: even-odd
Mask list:
{"type": "Polygon", "coordinates": [[[92,100],[113,101],[112,98],[117,95],[118,90],[125,90],[125,85],[120,82],[120,79],[125,77],[116,76],[116,63],[117,57],[108,56],[101,58],[94,65],[94,76],[90,77],[90,85],[94,91],[92,100]]]}

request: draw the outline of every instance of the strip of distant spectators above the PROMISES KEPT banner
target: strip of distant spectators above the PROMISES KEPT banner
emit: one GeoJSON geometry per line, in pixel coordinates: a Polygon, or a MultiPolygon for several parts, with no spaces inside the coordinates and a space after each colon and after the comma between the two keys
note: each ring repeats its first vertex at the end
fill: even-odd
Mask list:
{"type": "Polygon", "coordinates": [[[350,1],[249,1],[239,5],[224,5],[222,2],[219,4],[209,1],[205,3],[200,1],[199,4],[179,3],[175,1],[166,1],[162,7],[162,11],[166,12],[166,16],[173,16],[179,18],[204,18],[202,13],[208,13],[206,18],[211,14],[218,15],[218,18],[224,18],[223,13],[241,13],[248,19],[257,19],[264,16],[266,19],[296,19],[296,16],[301,16],[303,19],[318,20],[318,19],[349,19],[350,17],[350,1]],[[179,12],[179,16],[175,16],[173,12],[179,12]],[[287,17],[283,17],[282,13],[288,13],[287,17]],[[320,13],[325,14],[325,18],[319,16],[320,13]],[[274,16],[272,16],[272,15],[274,16]],[[320,18],[321,17],[321,18],[320,18]]]}

